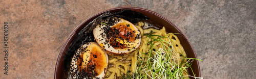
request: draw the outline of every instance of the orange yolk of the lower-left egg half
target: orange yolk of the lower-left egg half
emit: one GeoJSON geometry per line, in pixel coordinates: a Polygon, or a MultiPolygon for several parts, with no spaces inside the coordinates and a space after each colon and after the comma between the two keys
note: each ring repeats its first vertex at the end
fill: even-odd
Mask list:
{"type": "Polygon", "coordinates": [[[88,46],[88,50],[85,50],[80,56],[80,60],[77,62],[78,69],[89,74],[98,75],[104,71],[104,68],[108,65],[106,63],[105,52],[101,50],[96,44],[88,46]]]}

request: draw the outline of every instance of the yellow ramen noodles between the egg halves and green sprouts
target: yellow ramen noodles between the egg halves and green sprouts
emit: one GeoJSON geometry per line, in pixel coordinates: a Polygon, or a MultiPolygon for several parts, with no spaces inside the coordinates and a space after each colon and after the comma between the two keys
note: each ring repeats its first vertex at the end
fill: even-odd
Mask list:
{"type": "MultiPolygon", "coordinates": [[[[186,60],[182,59],[186,57],[185,50],[180,44],[178,37],[174,33],[167,34],[164,27],[161,30],[156,30],[156,29],[143,30],[142,29],[143,26],[144,26],[144,22],[138,22],[136,25],[136,27],[140,30],[140,33],[142,36],[141,45],[139,46],[138,50],[133,51],[131,52],[130,55],[126,55],[126,56],[109,56],[109,67],[106,71],[105,78],[107,79],[120,78],[120,77],[141,78],[139,76],[133,76],[133,75],[136,75],[138,74],[138,72],[140,72],[137,70],[138,69],[137,66],[140,65],[140,66],[147,67],[147,65],[142,64],[142,62],[146,62],[146,60],[148,59],[147,55],[149,54],[146,54],[146,53],[151,53],[153,55],[156,55],[156,50],[161,50],[164,48],[170,50],[169,52],[164,52],[164,53],[172,53],[172,56],[169,58],[169,60],[171,61],[169,62],[174,61],[178,65],[182,65],[181,67],[186,66],[186,64],[182,64],[183,62],[186,62],[186,60]],[[162,43],[164,45],[161,45],[161,41],[153,41],[152,42],[153,45],[148,45],[148,42],[152,41],[152,39],[150,39],[150,37],[145,36],[144,34],[151,34],[151,35],[166,37],[166,38],[160,38],[160,39],[168,42],[168,44],[162,43]]],[[[158,36],[153,36],[153,38],[157,38],[158,36]]],[[[169,66],[169,68],[172,68],[172,66],[169,66]]],[[[149,73],[149,71],[144,73],[145,74],[149,73]]],[[[156,73],[156,75],[158,74],[159,73],[156,73]]],[[[182,75],[184,76],[188,75],[187,69],[183,69],[182,75]]],[[[157,77],[148,75],[147,78],[157,78],[157,77]]]]}

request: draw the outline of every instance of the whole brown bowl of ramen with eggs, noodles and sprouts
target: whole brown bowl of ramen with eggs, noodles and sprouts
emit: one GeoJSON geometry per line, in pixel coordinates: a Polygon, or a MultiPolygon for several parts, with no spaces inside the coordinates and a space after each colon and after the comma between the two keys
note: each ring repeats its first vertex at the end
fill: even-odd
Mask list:
{"type": "Polygon", "coordinates": [[[195,78],[198,60],[172,21],[120,7],[78,25],[61,48],[55,78],[195,78]]]}

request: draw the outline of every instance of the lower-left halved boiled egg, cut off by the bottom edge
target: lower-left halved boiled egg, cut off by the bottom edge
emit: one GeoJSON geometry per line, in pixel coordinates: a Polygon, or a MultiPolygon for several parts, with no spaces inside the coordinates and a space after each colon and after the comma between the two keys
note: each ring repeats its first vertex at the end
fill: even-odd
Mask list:
{"type": "Polygon", "coordinates": [[[71,78],[104,78],[108,55],[96,43],[82,45],[72,58],[71,78]]]}

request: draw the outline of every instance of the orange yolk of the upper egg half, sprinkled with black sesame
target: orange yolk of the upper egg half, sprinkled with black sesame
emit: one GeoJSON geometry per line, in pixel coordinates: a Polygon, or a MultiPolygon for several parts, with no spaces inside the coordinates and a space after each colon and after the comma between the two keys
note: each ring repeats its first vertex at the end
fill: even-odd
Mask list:
{"type": "Polygon", "coordinates": [[[125,43],[120,43],[120,40],[127,42],[135,41],[135,31],[132,29],[132,27],[130,27],[129,23],[125,22],[114,25],[111,28],[108,36],[108,40],[110,41],[111,46],[114,48],[127,48],[125,43]]]}

